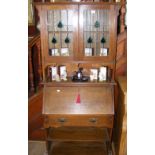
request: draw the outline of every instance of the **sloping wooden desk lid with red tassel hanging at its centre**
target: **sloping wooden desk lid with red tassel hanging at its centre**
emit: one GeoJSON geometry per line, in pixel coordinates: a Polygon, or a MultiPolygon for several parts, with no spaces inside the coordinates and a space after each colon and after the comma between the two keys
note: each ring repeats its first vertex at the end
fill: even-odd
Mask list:
{"type": "Polygon", "coordinates": [[[44,87],[43,114],[114,114],[113,89],[44,87]]]}

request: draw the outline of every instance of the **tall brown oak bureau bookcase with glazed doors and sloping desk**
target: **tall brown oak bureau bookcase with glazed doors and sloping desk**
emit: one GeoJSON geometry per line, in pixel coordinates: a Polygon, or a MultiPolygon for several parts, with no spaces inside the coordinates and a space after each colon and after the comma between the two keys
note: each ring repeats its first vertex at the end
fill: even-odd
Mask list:
{"type": "MultiPolygon", "coordinates": [[[[40,18],[43,115],[47,151],[52,141],[109,141],[114,120],[114,72],[119,4],[36,3],[40,18]],[[67,80],[51,80],[50,67],[65,66],[67,80]],[[106,80],[73,82],[79,67],[106,67],[106,80]]],[[[110,154],[111,152],[109,152],[110,154]]]]}

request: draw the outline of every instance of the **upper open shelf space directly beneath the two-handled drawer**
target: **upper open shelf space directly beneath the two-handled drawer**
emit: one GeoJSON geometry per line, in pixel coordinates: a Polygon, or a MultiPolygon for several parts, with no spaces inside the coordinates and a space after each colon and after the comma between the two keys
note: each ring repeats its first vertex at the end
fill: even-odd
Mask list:
{"type": "Polygon", "coordinates": [[[108,141],[106,128],[60,127],[47,130],[47,139],[51,141],[108,141]]]}

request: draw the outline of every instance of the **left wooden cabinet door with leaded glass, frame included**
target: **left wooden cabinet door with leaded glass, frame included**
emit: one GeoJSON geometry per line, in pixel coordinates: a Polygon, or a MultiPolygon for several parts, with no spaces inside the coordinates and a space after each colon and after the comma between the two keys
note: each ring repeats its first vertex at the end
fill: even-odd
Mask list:
{"type": "Polygon", "coordinates": [[[76,60],[78,50],[78,6],[42,5],[40,8],[43,61],[76,60]]]}

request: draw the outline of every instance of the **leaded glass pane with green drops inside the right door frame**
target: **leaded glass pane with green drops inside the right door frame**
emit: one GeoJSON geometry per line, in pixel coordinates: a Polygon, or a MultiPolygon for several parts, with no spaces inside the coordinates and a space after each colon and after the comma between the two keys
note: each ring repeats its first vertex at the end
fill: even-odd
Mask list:
{"type": "Polygon", "coordinates": [[[85,56],[107,56],[109,53],[109,11],[85,10],[83,15],[85,56]]]}

